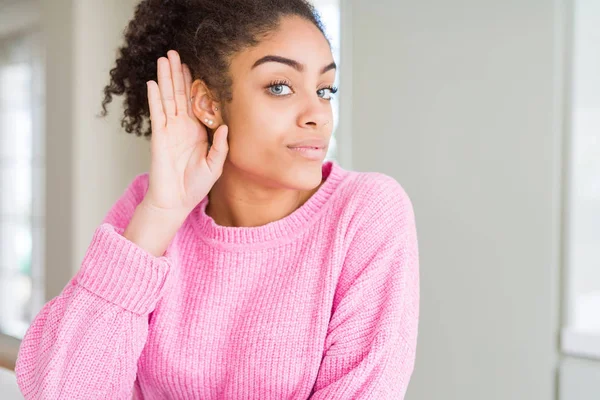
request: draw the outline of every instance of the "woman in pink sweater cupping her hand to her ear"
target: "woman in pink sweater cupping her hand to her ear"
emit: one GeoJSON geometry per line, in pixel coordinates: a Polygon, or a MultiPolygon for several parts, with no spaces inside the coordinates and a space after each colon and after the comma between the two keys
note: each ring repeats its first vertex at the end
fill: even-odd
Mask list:
{"type": "Polygon", "coordinates": [[[324,162],[336,71],[315,10],[145,0],[125,39],[104,115],[126,95],[151,166],[27,331],[25,397],[402,399],[413,208],[393,178],[324,162]]]}

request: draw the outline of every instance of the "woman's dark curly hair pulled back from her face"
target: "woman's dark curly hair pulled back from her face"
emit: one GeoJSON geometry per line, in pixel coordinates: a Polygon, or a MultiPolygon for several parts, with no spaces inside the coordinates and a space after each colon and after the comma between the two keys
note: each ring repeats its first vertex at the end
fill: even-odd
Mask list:
{"type": "Polygon", "coordinates": [[[124,31],[125,44],[119,48],[116,66],[110,70],[100,116],[107,115],[106,105],[113,95],[125,94],[121,126],[127,133],[150,138],[146,82],[158,81],[156,62],[171,49],[188,65],[194,80],[206,83],[217,101],[230,102],[231,57],[257,45],[286,16],[312,22],[330,43],[318,12],[305,0],[141,1],[124,31]],[[148,127],[142,131],[145,122],[148,127]]]}

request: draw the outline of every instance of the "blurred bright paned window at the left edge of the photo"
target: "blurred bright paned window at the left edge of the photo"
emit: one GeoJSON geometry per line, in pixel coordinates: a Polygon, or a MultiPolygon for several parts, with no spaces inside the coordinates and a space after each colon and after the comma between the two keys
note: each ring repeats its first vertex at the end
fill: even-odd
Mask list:
{"type": "Polygon", "coordinates": [[[44,303],[39,35],[0,37],[0,334],[22,338],[44,303]]]}

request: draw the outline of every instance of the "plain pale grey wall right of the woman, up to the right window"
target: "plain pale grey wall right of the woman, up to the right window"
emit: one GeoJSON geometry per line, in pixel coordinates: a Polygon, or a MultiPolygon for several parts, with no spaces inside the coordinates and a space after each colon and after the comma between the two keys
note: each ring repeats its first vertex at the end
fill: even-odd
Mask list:
{"type": "Polygon", "coordinates": [[[352,164],[396,177],[417,218],[407,399],[554,398],[561,4],[350,3],[352,164]]]}

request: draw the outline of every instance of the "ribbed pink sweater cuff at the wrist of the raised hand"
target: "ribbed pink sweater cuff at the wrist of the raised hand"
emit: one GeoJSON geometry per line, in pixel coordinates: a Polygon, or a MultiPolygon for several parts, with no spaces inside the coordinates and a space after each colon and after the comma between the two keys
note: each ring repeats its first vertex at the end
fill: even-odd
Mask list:
{"type": "Polygon", "coordinates": [[[155,257],[122,235],[124,229],[101,224],[83,258],[77,281],[92,293],[136,314],[149,314],[169,275],[166,256],[155,257]]]}

